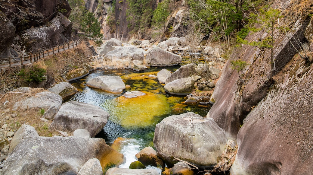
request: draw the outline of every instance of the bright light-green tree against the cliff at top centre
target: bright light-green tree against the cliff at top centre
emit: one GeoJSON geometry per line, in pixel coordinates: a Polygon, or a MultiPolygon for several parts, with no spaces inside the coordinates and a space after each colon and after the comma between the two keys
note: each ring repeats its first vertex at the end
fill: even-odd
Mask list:
{"type": "Polygon", "coordinates": [[[153,12],[152,21],[157,27],[163,27],[164,31],[166,30],[166,20],[170,15],[169,9],[170,0],[164,0],[161,3],[158,3],[156,10],[153,12]]]}

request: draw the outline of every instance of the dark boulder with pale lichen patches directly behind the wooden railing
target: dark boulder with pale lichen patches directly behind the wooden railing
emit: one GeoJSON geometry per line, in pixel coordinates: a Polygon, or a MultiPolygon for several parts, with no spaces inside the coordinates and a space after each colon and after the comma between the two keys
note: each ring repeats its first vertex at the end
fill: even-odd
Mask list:
{"type": "Polygon", "coordinates": [[[37,52],[52,46],[68,43],[72,33],[72,22],[58,13],[49,24],[33,27],[21,32],[26,49],[37,52]]]}

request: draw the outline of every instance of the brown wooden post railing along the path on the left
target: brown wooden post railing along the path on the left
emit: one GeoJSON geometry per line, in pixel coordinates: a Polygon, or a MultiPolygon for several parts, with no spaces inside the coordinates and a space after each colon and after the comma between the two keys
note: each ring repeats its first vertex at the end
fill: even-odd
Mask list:
{"type": "Polygon", "coordinates": [[[60,52],[63,52],[65,50],[69,50],[72,48],[77,47],[80,44],[80,41],[74,41],[65,45],[57,46],[54,48],[50,48],[47,50],[43,50],[40,52],[37,52],[33,55],[27,55],[27,56],[20,56],[15,58],[2,58],[0,59],[0,67],[8,67],[8,66],[18,66],[18,65],[24,65],[29,64],[32,62],[36,62],[41,58],[54,55],[60,52]]]}

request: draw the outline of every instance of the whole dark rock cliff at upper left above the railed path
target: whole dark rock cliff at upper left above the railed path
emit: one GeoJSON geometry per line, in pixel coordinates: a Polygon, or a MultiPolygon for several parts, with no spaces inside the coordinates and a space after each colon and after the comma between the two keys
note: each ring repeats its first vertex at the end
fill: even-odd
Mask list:
{"type": "Polygon", "coordinates": [[[25,55],[69,41],[72,25],[67,19],[71,12],[67,0],[3,1],[1,4],[1,21],[5,25],[0,25],[0,30],[8,35],[1,36],[6,39],[0,42],[3,46],[0,58],[25,55]],[[42,27],[49,27],[49,32],[42,27]],[[25,37],[28,32],[33,37],[25,37]],[[40,44],[34,46],[32,43],[40,44]]]}

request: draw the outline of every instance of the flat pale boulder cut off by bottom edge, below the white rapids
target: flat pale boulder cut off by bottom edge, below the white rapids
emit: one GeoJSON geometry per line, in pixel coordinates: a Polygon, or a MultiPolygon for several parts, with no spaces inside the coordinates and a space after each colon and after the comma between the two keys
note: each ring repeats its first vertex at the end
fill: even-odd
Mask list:
{"type": "Polygon", "coordinates": [[[105,175],[160,175],[155,169],[110,168],[105,175]]]}

